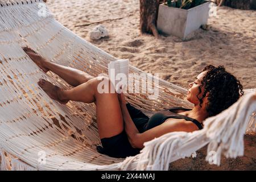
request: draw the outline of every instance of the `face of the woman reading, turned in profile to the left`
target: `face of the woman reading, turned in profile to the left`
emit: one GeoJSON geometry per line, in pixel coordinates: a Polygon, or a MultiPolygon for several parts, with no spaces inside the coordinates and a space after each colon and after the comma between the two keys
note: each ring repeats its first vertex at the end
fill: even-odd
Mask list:
{"type": "MultiPolygon", "coordinates": [[[[207,71],[201,72],[195,78],[195,81],[193,81],[189,84],[187,100],[195,105],[200,104],[200,101],[196,96],[199,93],[199,86],[201,85],[201,81],[203,80],[203,77],[206,75],[206,73],[207,73],[207,71]]],[[[203,96],[203,94],[204,94],[204,86],[201,87],[201,93],[199,94],[198,97],[201,98],[203,96]]],[[[207,98],[207,97],[205,97],[205,98],[207,98]]],[[[205,98],[203,99],[203,103],[204,103],[205,98]]]]}

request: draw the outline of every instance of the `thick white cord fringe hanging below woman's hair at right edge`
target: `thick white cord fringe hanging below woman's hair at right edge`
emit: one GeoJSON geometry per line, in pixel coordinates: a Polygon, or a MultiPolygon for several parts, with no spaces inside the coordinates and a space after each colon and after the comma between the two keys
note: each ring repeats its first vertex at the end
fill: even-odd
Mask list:
{"type": "MultiPolygon", "coordinates": [[[[221,154],[226,158],[237,158],[243,155],[243,135],[249,123],[253,123],[251,117],[256,111],[256,95],[249,94],[240,98],[228,111],[218,114],[218,120],[205,121],[207,137],[210,139],[207,151],[207,160],[210,157],[214,164],[220,166],[221,154]]],[[[250,126],[249,126],[250,127],[250,126]]]]}

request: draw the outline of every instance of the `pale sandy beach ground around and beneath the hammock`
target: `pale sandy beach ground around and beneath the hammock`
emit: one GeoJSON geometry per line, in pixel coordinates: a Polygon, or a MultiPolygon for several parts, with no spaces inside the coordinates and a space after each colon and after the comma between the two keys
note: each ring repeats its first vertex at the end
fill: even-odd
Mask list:
{"type": "MultiPolygon", "coordinates": [[[[65,27],[118,59],[164,80],[188,88],[208,64],[224,65],[245,89],[256,88],[256,11],[220,7],[208,20],[209,30],[197,30],[185,42],[175,36],[155,39],[140,35],[138,0],[48,0],[49,9],[65,27]],[[113,20],[116,19],[116,20],[113,20]],[[102,23],[93,23],[100,22],[102,23]],[[89,26],[81,26],[83,24],[89,26]],[[109,37],[90,40],[88,32],[104,25],[109,37]]],[[[256,170],[255,135],[245,136],[245,156],[222,159],[221,167],[205,162],[206,148],[196,159],[181,159],[172,169],[256,170]]]]}

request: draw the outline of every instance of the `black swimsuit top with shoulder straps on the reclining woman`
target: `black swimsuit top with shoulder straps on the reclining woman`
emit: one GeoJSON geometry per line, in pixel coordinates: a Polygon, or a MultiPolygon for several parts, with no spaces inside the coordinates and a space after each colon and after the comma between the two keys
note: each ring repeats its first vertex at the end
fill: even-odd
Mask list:
{"type": "Polygon", "coordinates": [[[196,119],[187,117],[186,115],[176,114],[176,113],[172,112],[172,110],[176,110],[176,109],[191,110],[191,109],[186,109],[186,108],[183,108],[183,107],[171,107],[170,109],[160,110],[160,111],[156,112],[155,114],[153,114],[150,117],[150,119],[148,121],[147,129],[149,130],[149,129],[152,129],[153,127],[161,125],[168,118],[185,119],[187,121],[191,121],[191,122],[195,123],[196,126],[200,130],[203,129],[203,124],[200,123],[199,121],[197,121],[196,119]]]}

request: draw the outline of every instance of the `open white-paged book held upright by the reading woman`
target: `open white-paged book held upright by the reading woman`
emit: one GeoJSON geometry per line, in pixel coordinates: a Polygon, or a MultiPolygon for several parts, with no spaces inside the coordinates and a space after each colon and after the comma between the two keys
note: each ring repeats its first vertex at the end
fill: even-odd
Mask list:
{"type": "Polygon", "coordinates": [[[109,78],[115,86],[115,91],[121,93],[126,89],[129,78],[129,60],[120,59],[108,64],[109,78]],[[120,86],[122,85],[122,89],[120,86]]]}

